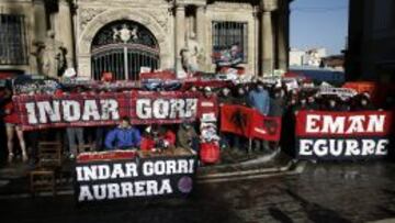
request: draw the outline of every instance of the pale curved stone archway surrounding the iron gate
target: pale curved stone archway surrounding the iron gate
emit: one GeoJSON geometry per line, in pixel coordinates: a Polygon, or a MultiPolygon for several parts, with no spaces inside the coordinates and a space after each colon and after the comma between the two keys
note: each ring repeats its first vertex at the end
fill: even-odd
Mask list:
{"type": "Polygon", "coordinates": [[[166,37],[166,32],[162,26],[149,13],[144,13],[142,10],[137,11],[134,9],[106,10],[88,22],[81,31],[81,34],[78,36],[78,71],[80,76],[90,77],[91,75],[91,45],[95,34],[105,24],[119,20],[135,21],[146,26],[158,41],[161,67],[163,68],[171,65],[171,55],[169,55],[171,52],[171,38],[166,37]]]}

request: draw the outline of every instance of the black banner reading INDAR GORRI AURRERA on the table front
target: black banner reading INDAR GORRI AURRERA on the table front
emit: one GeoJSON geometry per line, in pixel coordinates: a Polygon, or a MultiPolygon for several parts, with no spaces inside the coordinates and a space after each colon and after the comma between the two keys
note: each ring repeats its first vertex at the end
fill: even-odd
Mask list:
{"type": "Polygon", "coordinates": [[[90,203],[187,197],[193,190],[196,166],[194,155],[77,161],[75,198],[90,203]]]}

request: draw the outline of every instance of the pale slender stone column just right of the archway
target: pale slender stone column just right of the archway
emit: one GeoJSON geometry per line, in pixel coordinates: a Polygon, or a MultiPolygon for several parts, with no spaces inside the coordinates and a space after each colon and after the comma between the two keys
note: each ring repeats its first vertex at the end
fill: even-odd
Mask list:
{"type": "Polygon", "coordinates": [[[174,31],[174,55],[176,55],[176,70],[181,70],[180,52],[185,46],[185,7],[182,4],[176,5],[176,31],[174,31]]]}

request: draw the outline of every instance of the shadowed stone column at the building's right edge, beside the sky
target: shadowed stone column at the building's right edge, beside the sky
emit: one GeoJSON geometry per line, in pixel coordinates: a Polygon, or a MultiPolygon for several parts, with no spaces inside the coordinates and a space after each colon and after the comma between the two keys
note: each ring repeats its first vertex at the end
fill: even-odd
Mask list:
{"type": "Polygon", "coordinates": [[[279,35],[278,35],[278,49],[279,49],[279,69],[286,70],[289,64],[289,15],[290,9],[287,4],[283,4],[279,11],[279,35]]]}

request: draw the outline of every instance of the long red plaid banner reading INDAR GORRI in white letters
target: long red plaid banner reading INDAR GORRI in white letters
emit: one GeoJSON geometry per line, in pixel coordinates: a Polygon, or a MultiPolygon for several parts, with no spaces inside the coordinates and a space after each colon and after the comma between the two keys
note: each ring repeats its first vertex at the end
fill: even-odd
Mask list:
{"type": "Polygon", "coordinates": [[[132,124],[194,121],[199,112],[196,92],[127,91],[100,94],[16,96],[13,98],[25,131],[113,125],[122,116],[132,124]]]}

